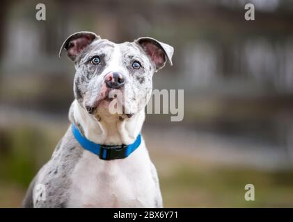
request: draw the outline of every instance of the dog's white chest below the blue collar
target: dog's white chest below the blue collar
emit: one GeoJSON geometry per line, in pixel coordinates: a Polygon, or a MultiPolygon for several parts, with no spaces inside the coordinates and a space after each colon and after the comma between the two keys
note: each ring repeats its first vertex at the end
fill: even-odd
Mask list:
{"type": "Polygon", "coordinates": [[[84,152],[71,176],[68,207],[154,207],[155,182],[143,150],[111,161],[84,152]]]}

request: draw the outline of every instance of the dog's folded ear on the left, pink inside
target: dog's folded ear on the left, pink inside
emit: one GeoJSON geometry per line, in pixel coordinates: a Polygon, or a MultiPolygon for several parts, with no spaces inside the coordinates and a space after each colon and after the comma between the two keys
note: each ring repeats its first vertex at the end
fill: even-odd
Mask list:
{"type": "Polygon", "coordinates": [[[94,40],[98,39],[100,39],[100,36],[97,36],[95,33],[88,31],[74,33],[63,42],[59,51],[59,57],[61,57],[61,53],[63,49],[65,49],[67,51],[68,57],[71,60],[75,60],[77,55],[81,53],[81,51],[83,51],[86,46],[88,46],[94,40]]]}

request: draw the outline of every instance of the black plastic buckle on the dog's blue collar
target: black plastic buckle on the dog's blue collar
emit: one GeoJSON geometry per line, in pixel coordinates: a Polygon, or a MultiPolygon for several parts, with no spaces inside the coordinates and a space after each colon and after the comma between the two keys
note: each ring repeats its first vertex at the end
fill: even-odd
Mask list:
{"type": "Polygon", "coordinates": [[[100,159],[102,160],[116,160],[125,158],[125,151],[127,145],[111,146],[100,145],[100,159]]]}

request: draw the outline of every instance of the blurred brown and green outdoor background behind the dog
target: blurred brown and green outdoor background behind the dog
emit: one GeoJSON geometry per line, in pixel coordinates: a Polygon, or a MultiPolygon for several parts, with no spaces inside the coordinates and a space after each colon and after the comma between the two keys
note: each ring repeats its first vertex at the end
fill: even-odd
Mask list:
{"type": "Polygon", "coordinates": [[[184,89],[184,120],[143,128],[165,207],[293,207],[292,22],[290,0],[1,1],[0,207],[20,206],[69,126],[74,67],[57,55],[84,30],[175,48],[154,88],[184,89]]]}

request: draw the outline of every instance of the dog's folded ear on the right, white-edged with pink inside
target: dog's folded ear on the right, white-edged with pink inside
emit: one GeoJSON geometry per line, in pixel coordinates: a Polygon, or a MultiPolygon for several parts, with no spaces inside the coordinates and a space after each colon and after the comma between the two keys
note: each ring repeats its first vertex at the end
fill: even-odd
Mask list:
{"type": "Polygon", "coordinates": [[[174,52],[172,46],[159,42],[152,37],[140,37],[134,42],[141,46],[143,51],[155,62],[156,71],[163,68],[167,60],[170,65],[172,65],[172,56],[174,52]]]}

